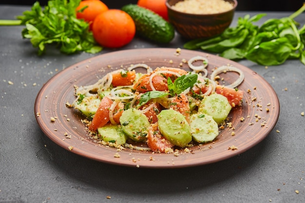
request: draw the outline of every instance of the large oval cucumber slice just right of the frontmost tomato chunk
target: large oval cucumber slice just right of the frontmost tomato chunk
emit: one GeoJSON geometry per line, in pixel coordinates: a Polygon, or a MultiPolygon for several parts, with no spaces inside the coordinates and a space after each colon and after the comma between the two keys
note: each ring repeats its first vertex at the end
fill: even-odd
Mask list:
{"type": "Polygon", "coordinates": [[[186,147],[191,142],[191,127],[185,117],[173,109],[158,114],[158,127],[161,134],[178,147],[186,147]]]}

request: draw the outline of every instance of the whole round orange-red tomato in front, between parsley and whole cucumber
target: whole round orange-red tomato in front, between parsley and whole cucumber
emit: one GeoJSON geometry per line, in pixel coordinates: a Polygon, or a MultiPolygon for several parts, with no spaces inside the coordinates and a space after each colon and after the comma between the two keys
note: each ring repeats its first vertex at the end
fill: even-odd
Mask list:
{"type": "Polygon", "coordinates": [[[131,42],[135,35],[135,24],[126,12],[109,9],[95,18],[92,32],[101,46],[118,48],[131,42]]]}

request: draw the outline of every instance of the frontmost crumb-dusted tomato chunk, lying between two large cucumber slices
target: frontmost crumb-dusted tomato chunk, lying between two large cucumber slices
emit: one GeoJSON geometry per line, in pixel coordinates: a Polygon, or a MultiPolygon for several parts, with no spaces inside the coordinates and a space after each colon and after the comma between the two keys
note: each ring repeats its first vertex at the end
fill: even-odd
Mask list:
{"type": "Polygon", "coordinates": [[[173,145],[164,136],[161,135],[158,129],[158,123],[151,124],[148,129],[147,145],[154,152],[164,153],[173,145]]]}

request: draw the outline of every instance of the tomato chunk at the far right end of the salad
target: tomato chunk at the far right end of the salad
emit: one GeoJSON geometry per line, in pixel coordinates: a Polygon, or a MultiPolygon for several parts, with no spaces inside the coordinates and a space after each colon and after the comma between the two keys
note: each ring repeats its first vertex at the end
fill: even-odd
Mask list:
{"type": "Polygon", "coordinates": [[[217,85],[216,86],[216,93],[224,95],[227,97],[231,107],[240,106],[244,92],[238,89],[228,88],[225,86],[217,85]]]}

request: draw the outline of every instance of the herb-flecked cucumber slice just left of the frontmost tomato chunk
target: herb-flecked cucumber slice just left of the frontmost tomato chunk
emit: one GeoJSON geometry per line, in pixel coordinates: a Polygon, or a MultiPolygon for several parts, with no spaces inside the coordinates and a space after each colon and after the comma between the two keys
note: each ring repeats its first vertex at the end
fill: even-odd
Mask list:
{"type": "Polygon", "coordinates": [[[136,142],[146,140],[148,128],[151,125],[146,115],[136,109],[123,111],[120,117],[120,124],[126,135],[136,142]]]}

